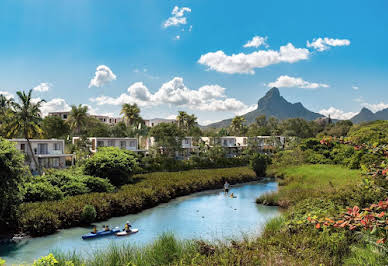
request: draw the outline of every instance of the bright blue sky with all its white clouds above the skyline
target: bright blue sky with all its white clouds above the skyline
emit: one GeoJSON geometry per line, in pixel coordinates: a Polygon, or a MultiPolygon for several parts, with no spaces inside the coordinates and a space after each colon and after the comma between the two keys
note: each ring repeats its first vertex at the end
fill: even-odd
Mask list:
{"type": "Polygon", "coordinates": [[[2,0],[0,91],[35,88],[45,112],[118,115],[136,102],[145,118],[185,110],[209,123],[277,85],[349,118],[388,108],[387,11],[384,0],[2,0]]]}

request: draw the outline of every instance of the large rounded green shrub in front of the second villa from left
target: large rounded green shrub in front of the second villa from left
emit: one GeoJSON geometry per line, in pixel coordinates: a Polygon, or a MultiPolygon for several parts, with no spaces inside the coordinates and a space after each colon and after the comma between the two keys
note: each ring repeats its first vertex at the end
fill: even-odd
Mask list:
{"type": "Polygon", "coordinates": [[[100,148],[84,163],[87,175],[107,178],[119,186],[131,182],[131,176],[139,171],[138,162],[134,153],[114,147],[100,148]]]}

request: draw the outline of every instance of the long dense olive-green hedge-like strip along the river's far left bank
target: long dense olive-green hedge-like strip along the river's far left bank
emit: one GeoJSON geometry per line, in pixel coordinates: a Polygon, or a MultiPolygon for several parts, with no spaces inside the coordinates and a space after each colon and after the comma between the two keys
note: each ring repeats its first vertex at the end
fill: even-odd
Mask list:
{"type": "Polygon", "coordinates": [[[96,209],[95,221],[138,213],[168,202],[178,196],[230,184],[258,180],[248,167],[155,172],[134,176],[135,183],[114,193],[91,193],[60,201],[27,203],[20,206],[19,224],[24,233],[47,235],[61,228],[82,225],[81,213],[86,205],[96,209]]]}

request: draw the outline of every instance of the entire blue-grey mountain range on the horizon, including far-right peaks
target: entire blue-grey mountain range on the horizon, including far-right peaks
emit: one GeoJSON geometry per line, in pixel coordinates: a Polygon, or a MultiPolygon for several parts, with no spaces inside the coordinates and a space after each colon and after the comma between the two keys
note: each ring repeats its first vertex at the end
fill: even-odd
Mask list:
{"type": "MultiPolygon", "coordinates": [[[[284,99],[278,88],[270,89],[263,98],[258,101],[257,109],[243,115],[247,124],[255,122],[256,117],[265,115],[267,117],[276,117],[280,120],[288,118],[303,118],[306,120],[315,120],[324,117],[321,114],[306,109],[302,103],[290,103],[284,99]]],[[[373,120],[388,120],[388,108],[373,113],[367,108],[362,108],[360,113],[350,119],[353,123],[361,123],[373,120]]],[[[204,128],[226,128],[232,122],[232,118],[225,119],[216,123],[204,126],[204,128]]]]}

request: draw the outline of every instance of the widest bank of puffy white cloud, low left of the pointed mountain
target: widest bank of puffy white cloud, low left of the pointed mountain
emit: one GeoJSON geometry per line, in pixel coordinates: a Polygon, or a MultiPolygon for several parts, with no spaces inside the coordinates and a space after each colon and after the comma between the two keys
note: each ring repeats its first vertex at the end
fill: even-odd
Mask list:
{"type": "Polygon", "coordinates": [[[132,84],[127,91],[116,98],[103,95],[91,98],[90,101],[97,105],[136,103],[142,107],[169,104],[192,110],[231,111],[234,113],[250,108],[235,98],[227,98],[225,88],[219,85],[205,85],[198,90],[191,90],[186,87],[183,78],[180,77],[175,77],[162,84],[155,93],[151,93],[142,82],[132,84]]]}

